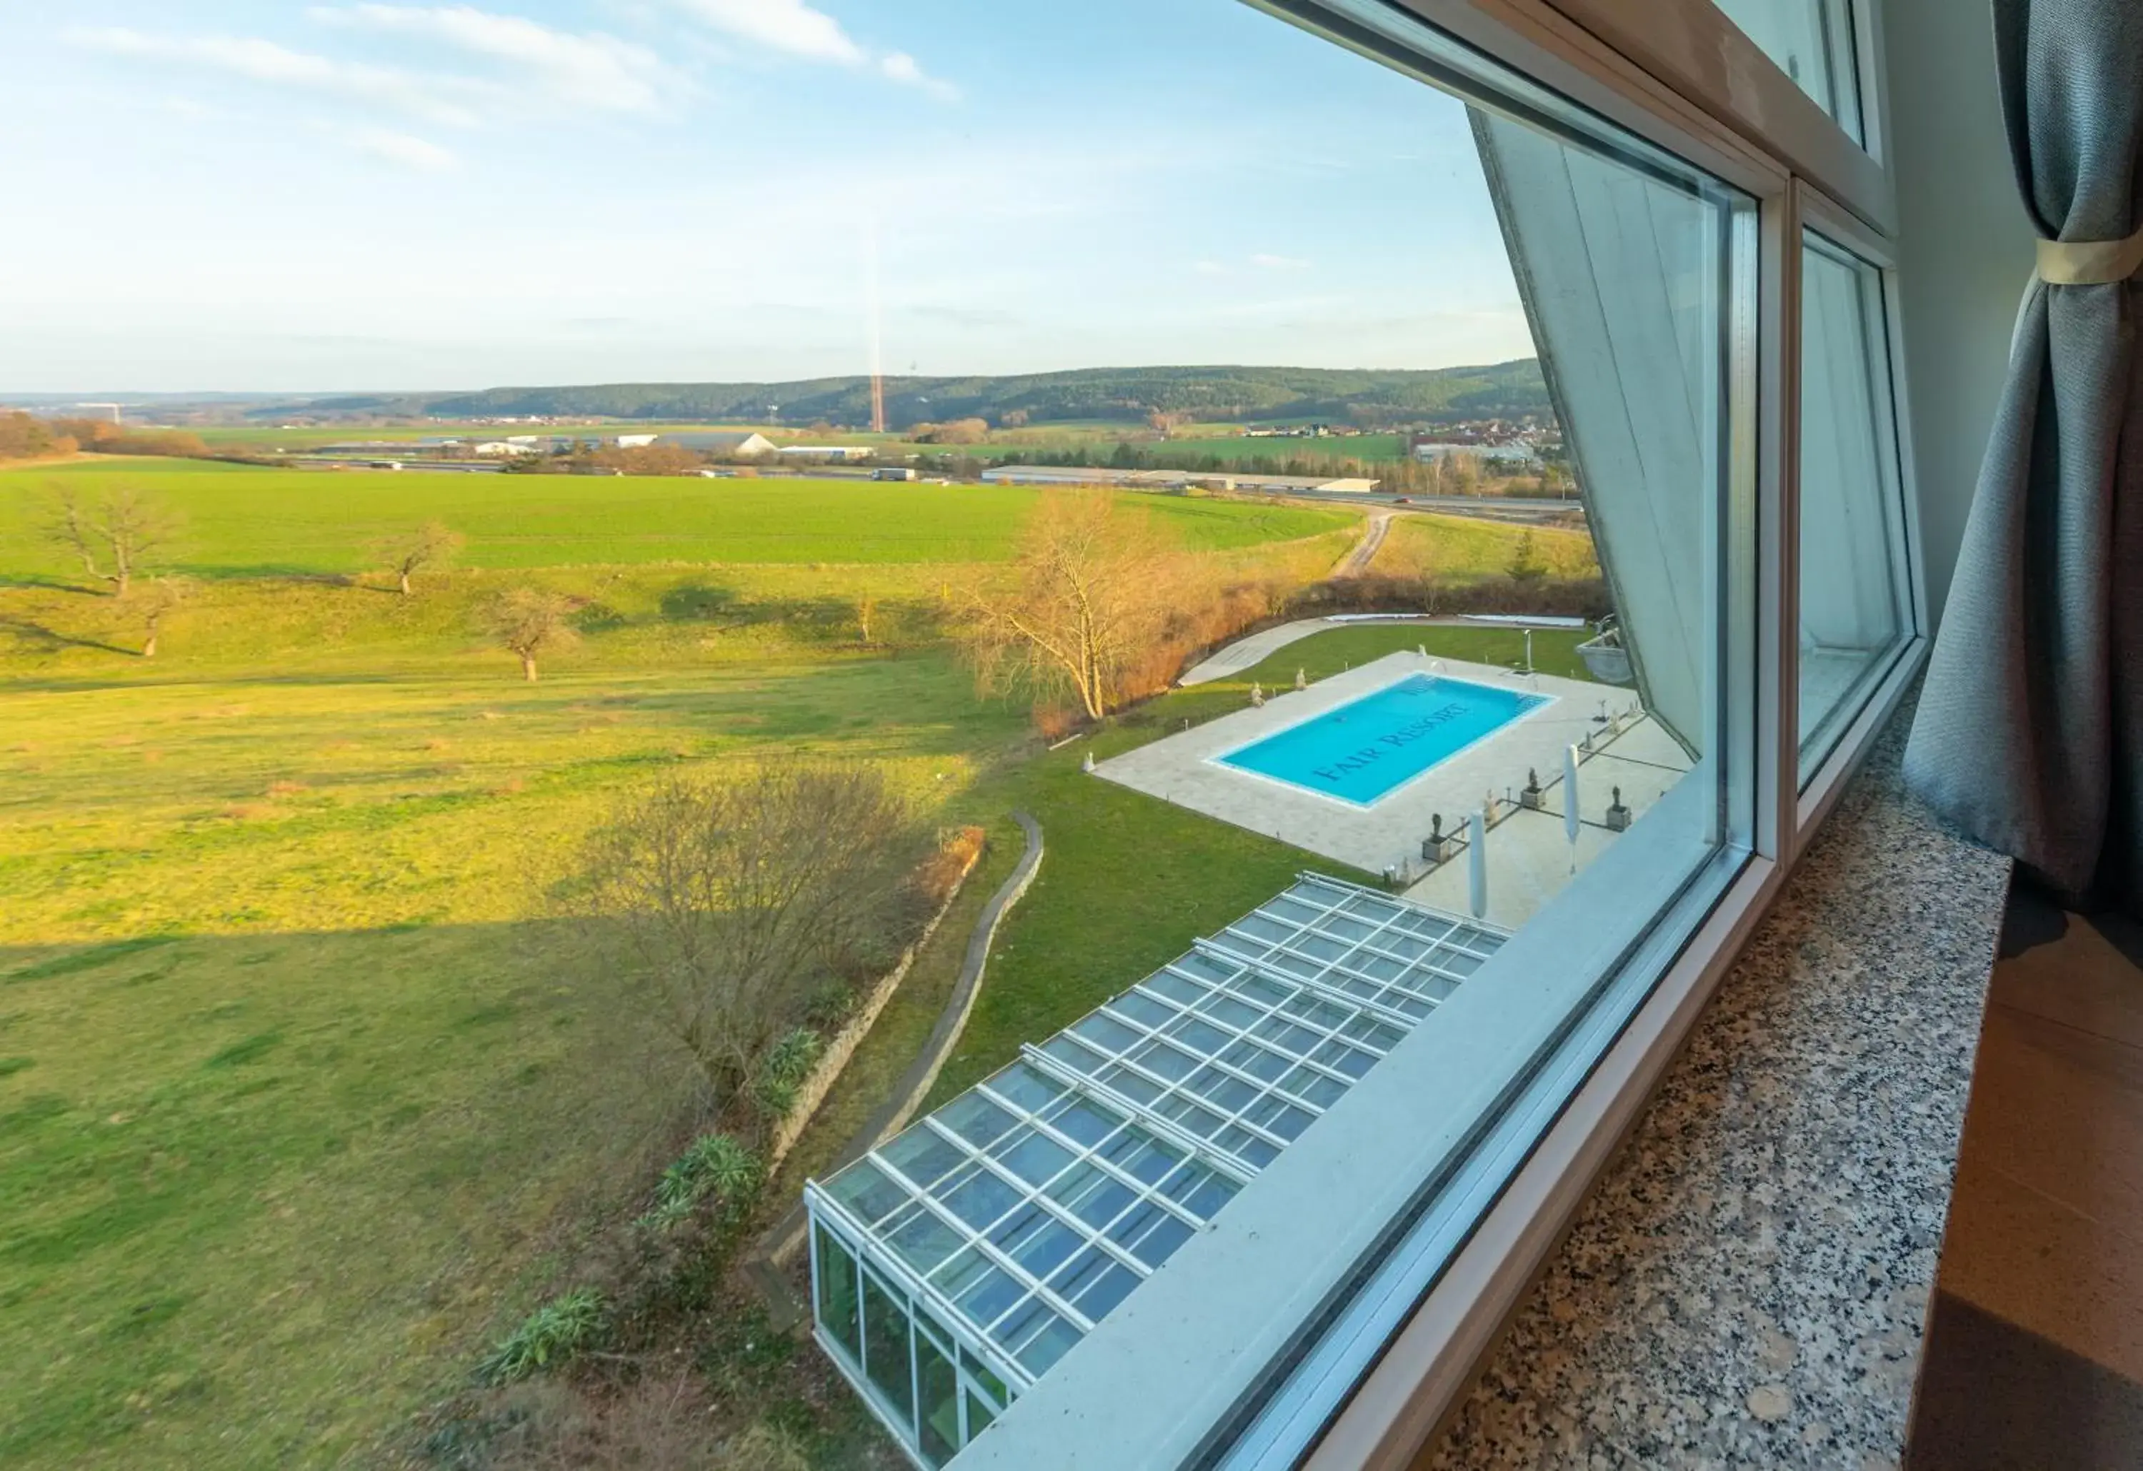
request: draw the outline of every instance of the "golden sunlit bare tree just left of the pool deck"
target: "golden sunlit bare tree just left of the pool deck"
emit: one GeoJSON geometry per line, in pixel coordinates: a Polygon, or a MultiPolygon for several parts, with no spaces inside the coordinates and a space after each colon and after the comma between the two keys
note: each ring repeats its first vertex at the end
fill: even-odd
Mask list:
{"type": "Polygon", "coordinates": [[[1151,516],[1106,490],[1050,490],[1026,522],[1009,587],[969,591],[964,642],[984,689],[1069,685],[1089,719],[1168,625],[1179,557],[1151,516]]]}

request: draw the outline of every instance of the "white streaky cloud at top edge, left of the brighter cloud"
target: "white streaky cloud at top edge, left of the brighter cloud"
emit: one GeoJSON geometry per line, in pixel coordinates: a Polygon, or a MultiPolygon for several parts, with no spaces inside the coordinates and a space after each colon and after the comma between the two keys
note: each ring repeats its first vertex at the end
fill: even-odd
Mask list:
{"type": "Polygon", "coordinates": [[[521,15],[476,6],[356,4],[315,6],[324,26],[416,36],[514,66],[551,96],[596,109],[654,111],[671,84],[669,69],[643,45],[602,32],[572,34],[521,15]]]}

